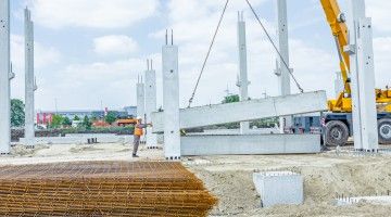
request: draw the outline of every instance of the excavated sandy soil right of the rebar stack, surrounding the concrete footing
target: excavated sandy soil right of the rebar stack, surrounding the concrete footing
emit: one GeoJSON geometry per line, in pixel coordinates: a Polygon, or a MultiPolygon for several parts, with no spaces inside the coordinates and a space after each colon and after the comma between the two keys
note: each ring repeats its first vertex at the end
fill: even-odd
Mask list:
{"type": "Polygon", "coordinates": [[[186,162],[219,199],[211,216],[390,216],[391,206],[338,207],[336,194],[376,195],[391,190],[391,156],[219,156],[186,162]],[[300,206],[260,208],[254,170],[293,170],[303,175],[305,202],[300,206]]]}

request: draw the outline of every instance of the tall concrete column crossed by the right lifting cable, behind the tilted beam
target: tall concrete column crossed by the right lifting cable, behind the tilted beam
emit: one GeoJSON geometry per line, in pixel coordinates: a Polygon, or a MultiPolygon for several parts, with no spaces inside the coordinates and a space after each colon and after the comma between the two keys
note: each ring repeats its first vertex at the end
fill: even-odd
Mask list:
{"type": "MultiPolygon", "coordinates": [[[[288,38],[288,13],[287,0],[277,0],[277,35],[278,50],[282,58],[277,55],[276,75],[278,77],[278,87],[280,95],[291,94],[290,71],[289,68],[289,38],[288,38]]],[[[292,117],[280,117],[280,130],[283,132],[286,127],[292,126],[292,117]]]]}

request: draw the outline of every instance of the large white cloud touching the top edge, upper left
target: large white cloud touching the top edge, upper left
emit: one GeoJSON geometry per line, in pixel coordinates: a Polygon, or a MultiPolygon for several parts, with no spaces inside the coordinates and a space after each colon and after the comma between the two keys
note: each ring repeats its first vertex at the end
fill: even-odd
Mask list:
{"type": "Polygon", "coordinates": [[[35,0],[34,18],[51,27],[128,27],[156,13],[157,0],[35,0]]]}

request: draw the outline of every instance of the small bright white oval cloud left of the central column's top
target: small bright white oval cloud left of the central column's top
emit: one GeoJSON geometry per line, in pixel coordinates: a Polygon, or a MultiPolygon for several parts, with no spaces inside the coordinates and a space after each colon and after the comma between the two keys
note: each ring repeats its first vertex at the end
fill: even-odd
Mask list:
{"type": "Polygon", "coordinates": [[[103,36],[93,39],[94,52],[100,55],[126,55],[137,51],[137,42],[124,35],[103,36]]]}

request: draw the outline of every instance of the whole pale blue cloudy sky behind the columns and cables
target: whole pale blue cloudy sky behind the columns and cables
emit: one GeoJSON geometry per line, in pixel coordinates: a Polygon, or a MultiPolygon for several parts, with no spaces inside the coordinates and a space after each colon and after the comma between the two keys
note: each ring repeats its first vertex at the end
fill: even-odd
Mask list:
{"type": "MultiPolygon", "coordinates": [[[[252,0],[275,38],[275,1],[252,0]]],[[[340,1],[345,9],[348,0],[340,1]]],[[[13,98],[24,98],[23,9],[35,21],[37,110],[121,108],[136,103],[136,81],[154,60],[162,104],[161,46],[173,28],[179,46],[180,102],[188,101],[224,0],[12,0],[13,98]]],[[[288,0],[291,67],[306,91],[333,97],[338,60],[318,0],[288,0]]],[[[377,86],[391,85],[391,2],[367,1],[374,18],[377,86]]],[[[275,54],[244,0],[231,0],[194,105],[218,103],[227,86],[238,92],[237,11],[248,23],[250,97],[277,94],[275,54]]],[[[292,92],[298,89],[292,85],[292,92]]]]}

